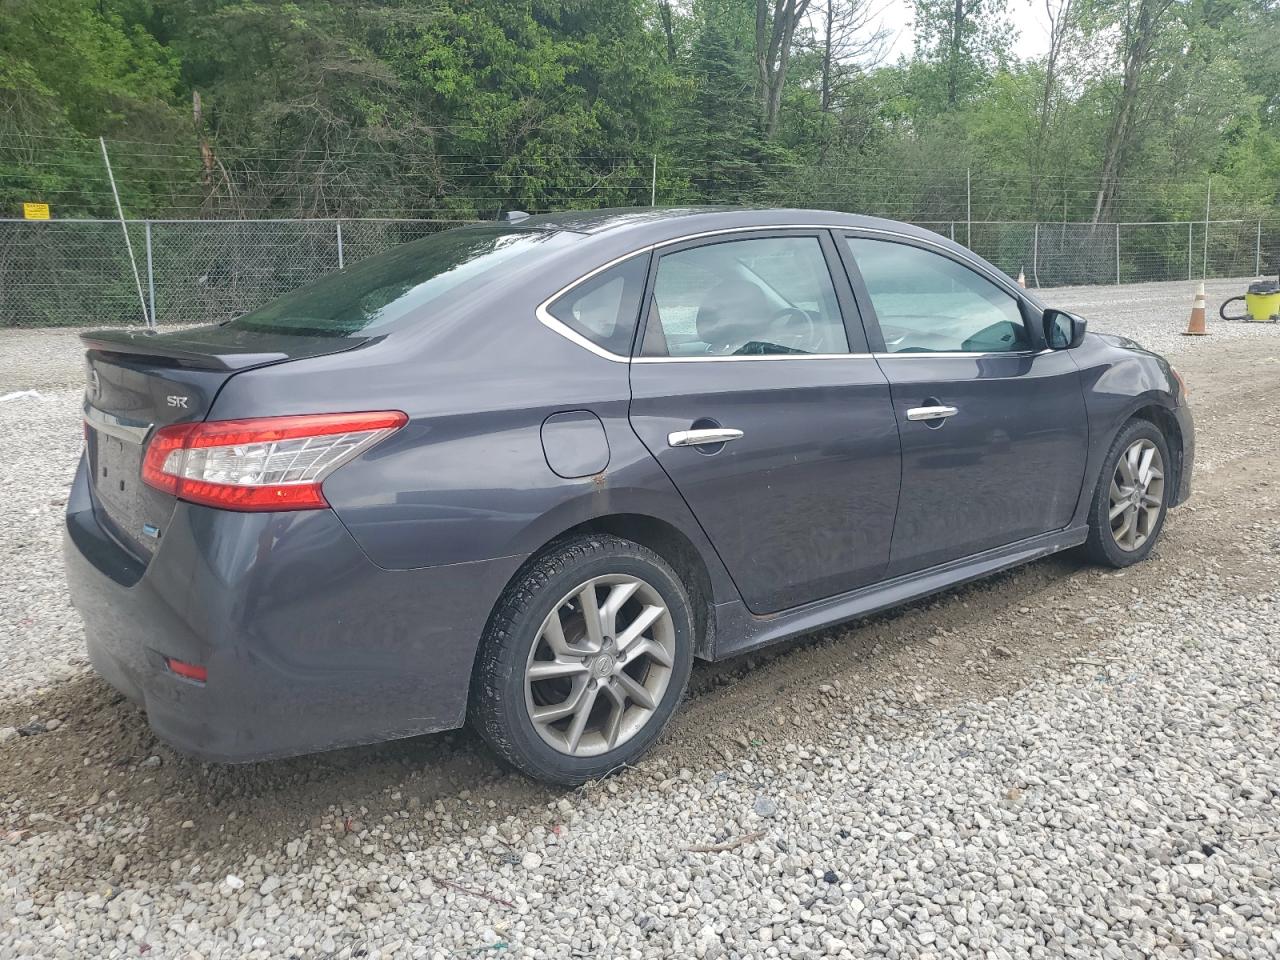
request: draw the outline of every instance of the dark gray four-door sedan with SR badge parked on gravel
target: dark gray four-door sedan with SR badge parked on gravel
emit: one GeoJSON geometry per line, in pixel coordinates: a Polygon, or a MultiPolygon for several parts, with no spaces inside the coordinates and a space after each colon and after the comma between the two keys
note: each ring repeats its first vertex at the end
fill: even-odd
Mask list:
{"type": "Polygon", "coordinates": [[[1192,474],[1161,357],[844,214],[511,218],[84,339],[72,598],[97,671],[214,760],[470,717],[581,782],[695,657],[1071,547],[1135,563],[1192,474]]]}

